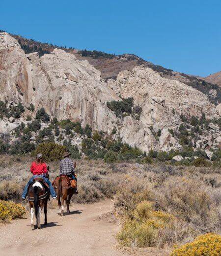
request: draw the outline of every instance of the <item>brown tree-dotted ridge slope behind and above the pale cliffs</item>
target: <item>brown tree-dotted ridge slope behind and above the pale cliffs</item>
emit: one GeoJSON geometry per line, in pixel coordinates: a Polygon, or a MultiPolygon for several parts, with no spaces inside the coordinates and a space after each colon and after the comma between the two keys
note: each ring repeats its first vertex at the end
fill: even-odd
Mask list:
{"type": "Polygon", "coordinates": [[[78,50],[74,48],[66,48],[65,46],[53,45],[50,43],[42,43],[35,41],[34,39],[24,38],[20,35],[10,35],[19,41],[22,49],[25,50],[26,53],[37,51],[39,52],[39,56],[42,56],[43,54],[49,54],[55,48],[62,49],[68,53],[73,53],[78,60],[87,60],[89,64],[100,70],[101,77],[106,81],[110,78],[116,79],[120,71],[132,71],[135,66],[144,65],[150,67],[168,79],[178,80],[206,94],[212,103],[221,103],[221,88],[219,88],[219,81],[217,81],[216,78],[212,79],[207,77],[205,80],[202,80],[201,78],[192,75],[176,72],[160,65],[155,65],[133,54],[116,56],[99,51],[78,50]]]}

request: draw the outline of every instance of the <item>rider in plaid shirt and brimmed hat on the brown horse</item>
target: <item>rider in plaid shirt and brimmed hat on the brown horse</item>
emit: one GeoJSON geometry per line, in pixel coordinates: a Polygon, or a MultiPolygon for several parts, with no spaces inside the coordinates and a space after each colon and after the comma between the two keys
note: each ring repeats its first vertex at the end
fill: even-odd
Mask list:
{"type": "MultiPolygon", "coordinates": [[[[71,179],[76,180],[76,182],[77,182],[77,178],[76,178],[76,174],[75,174],[75,166],[74,166],[72,160],[69,158],[70,155],[71,154],[68,152],[64,153],[63,159],[60,161],[59,172],[60,172],[60,175],[67,175],[71,179]]],[[[78,190],[75,189],[74,193],[77,194],[78,190]]]]}

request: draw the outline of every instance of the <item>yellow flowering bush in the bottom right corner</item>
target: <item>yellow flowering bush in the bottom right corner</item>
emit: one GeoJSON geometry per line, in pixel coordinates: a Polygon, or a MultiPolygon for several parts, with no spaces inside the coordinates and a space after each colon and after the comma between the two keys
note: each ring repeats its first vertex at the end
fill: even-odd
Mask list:
{"type": "Polygon", "coordinates": [[[221,235],[207,233],[175,249],[170,256],[221,256],[221,235]]]}

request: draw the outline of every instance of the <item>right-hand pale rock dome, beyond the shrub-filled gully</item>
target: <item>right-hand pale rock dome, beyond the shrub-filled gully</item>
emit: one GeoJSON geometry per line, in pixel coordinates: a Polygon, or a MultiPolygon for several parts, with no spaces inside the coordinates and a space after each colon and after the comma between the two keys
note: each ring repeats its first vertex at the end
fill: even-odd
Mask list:
{"type": "Polygon", "coordinates": [[[135,104],[142,107],[141,123],[156,130],[178,125],[181,113],[187,117],[205,113],[208,118],[215,113],[215,105],[207,96],[179,81],[163,78],[148,67],[120,72],[108,85],[123,98],[133,96],[135,104]]]}

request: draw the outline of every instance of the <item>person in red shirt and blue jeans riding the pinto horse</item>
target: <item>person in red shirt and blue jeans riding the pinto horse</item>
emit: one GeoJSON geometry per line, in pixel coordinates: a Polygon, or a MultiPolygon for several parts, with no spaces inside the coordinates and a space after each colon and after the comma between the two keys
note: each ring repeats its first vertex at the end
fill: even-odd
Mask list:
{"type": "Polygon", "coordinates": [[[30,172],[33,174],[33,176],[30,178],[28,183],[26,184],[24,191],[22,193],[22,199],[25,200],[27,193],[28,193],[28,187],[33,182],[35,178],[42,178],[45,183],[49,185],[49,190],[52,195],[52,198],[55,199],[57,197],[56,192],[52,186],[52,183],[48,179],[48,169],[47,164],[44,162],[42,158],[42,154],[37,154],[36,160],[31,163],[30,172]]]}

